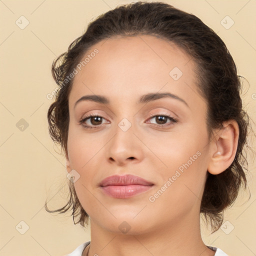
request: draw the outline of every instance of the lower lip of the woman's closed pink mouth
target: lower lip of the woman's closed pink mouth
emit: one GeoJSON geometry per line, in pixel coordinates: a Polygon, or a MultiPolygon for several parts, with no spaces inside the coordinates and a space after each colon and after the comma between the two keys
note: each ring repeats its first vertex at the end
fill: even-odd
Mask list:
{"type": "Polygon", "coordinates": [[[114,198],[129,198],[150,189],[152,185],[109,185],[101,186],[103,192],[114,198]]]}

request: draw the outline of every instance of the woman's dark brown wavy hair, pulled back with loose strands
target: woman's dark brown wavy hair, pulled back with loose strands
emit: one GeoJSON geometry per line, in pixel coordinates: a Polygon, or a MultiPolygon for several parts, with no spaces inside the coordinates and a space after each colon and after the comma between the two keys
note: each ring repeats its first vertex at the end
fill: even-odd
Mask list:
{"type": "MultiPolygon", "coordinates": [[[[68,95],[73,80],[66,77],[84,54],[101,40],[118,35],[142,34],[174,42],[197,64],[197,86],[207,102],[209,138],[213,136],[213,129],[222,127],[224,121],[234,119],[238,123],[238,146],[232,164],[217,175],[207,172],[200,213],[210,220],[214,232],[222,224],[223,210],[232,205],[240,186],[243,184],[246,188],[245,170],[248,163],[242,151],[247,140],[249,116],[242,109],[242,76],[237,75],[232,56],[221,38],[195,15],[167,3],[139,1],[118,5],[91,21],[86,31],[52,63],[52,75],[58,89],[47,113],[49,134],[54,142],[61,145],[61,151],[64,149],[66,153],[68,95]]],[[[62,208],[49,210],[46,201],[44,206],[48,212],[63,213],[72,209],[74,224],[79,223],[83,227],[88,224],[89,216],[82,208],[72,182],[69,182],[69,200],[62,208]]]]}

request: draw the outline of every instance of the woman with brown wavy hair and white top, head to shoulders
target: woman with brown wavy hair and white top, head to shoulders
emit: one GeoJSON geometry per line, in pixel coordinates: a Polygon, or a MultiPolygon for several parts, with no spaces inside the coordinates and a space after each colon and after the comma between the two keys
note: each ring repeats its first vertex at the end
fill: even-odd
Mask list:
{"type": "MultiPolygon", "coordinates": [[[[224,42],[162,2],[120,5],[52,64],[49,132],[91,240],[70,256],[227,255],[205,245],[246,178],[248,116],[224,42]]],[[[75,223],[75,221],[74,221],[75,223]]]]}

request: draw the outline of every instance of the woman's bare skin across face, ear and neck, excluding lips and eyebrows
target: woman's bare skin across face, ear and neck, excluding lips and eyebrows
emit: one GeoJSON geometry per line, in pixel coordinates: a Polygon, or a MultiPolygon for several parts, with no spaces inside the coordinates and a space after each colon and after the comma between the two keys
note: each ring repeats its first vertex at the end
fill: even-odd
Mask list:
{"type": "Polygon", "coordinates": [[[80,175],[74,187],[90,216],[88,255],[214,255],[201,239],[200,202],[207,171],[218,174],[234,159],[237,123],[226,122],[208,138],[196,64],[175,44],[151,35],[118,36],[93,45],[85,56],[94,48],[98,53],[75,75],[69,94],[66,155],[67,171],[80,175]],[[182,71],[176,80],[169,75],[174,67],[182,71]],[[172,97],[137,102],[154,92],[175,94],[186,103],[172,97]],[[107,97],[109,105],[91,100],[75,105],[89,94],[107,97]],[[88,118],[83,124],[93,128],[86,129],[79,120],[89,114],[102,118],[88,118]],[[118,126],[128,125],[123,118],[131,124],[126,131],[118,126]],[[181,172],[184,163],[189,166],[181,172]],[[137,175],[154,185],[130,198],[113,198],[98,186],[113,174],[137,175]],[[164,191],[154,196],[159,189],[164,191]],[[126,233],[119,228],[123,221],[130,228],[126,233]]]}

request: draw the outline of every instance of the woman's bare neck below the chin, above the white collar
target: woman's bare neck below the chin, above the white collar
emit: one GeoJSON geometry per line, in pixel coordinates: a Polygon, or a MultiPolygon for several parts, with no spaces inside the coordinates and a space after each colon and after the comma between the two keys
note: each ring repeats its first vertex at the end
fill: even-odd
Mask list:
{"type": "Polygon", "coordinates": [[[130,232],[130,229],[126,234],[111,232],[90,219],[91,242],[88,256],[213,256],[215,252],[201,239],[199,218],[191,221],[190,217],[179,217],[143,233],[130,232]]]}

